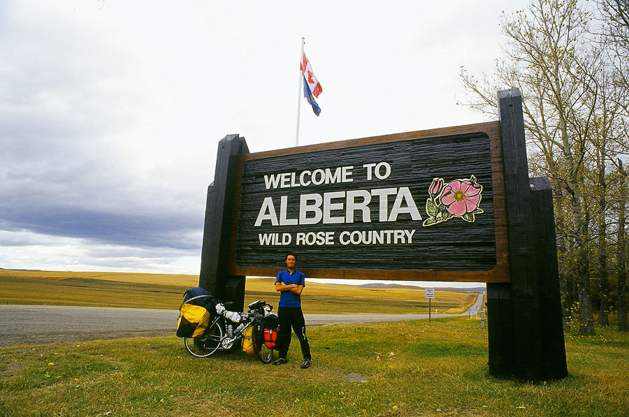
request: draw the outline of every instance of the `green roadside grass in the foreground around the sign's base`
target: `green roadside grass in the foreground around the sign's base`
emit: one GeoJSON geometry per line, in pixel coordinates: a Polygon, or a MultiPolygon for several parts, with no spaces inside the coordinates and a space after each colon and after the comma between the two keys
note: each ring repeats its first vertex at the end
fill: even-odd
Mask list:
{"type": "MultiPolygon", "coordinates": [[[[491,325],[491,318],[488,320],[491,325]]],[[[627,416],[629,335],[566,335],[570,376],[487,374],[487,332],[468,319],[308,328],[312,367],[243,352],[193,358],[177,337],[0,349],[8,416],[627,416]]]]}

